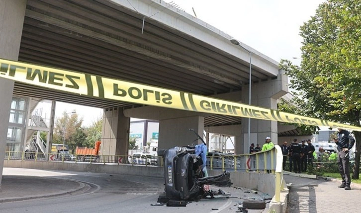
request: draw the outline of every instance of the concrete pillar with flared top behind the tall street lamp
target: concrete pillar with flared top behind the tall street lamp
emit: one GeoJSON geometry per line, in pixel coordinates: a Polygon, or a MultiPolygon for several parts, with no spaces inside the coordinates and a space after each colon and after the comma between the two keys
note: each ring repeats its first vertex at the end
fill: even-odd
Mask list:
{"type": "MultiPolygon", "coordinates": [[[[251,105],[277,109],[277,99],[288,92],[287,76],[278,74],[276,79],[252,84],[251,105]]],[[[248,85],[242,87],[242,102],[248,104],[248,85]]],[[[248,118],[242,119],[242,139],[244,153],[248,152],[248,118]]],[[[259,119],[251,119],[251,143],[265,143],[265,138],[271,137],[271,141],[277,143],[277,122],[259,119]]]]}

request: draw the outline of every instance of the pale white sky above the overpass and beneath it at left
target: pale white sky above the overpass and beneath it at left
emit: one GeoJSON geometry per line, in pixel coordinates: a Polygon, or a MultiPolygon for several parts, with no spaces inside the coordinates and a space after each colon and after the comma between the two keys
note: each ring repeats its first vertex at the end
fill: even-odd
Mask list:
{"type": "MultiPolygon", "coordinates": [[[[172,0],[165,0],[171,2],[172,0]]],[[[220,29],[275,61],[299,64],[299,27],[325,0],[173,0],[185,12],[220,29]]],[[[76,110],[84,126],[102,116],[102,109],[57,102],[55,118],[76,110]]]]}

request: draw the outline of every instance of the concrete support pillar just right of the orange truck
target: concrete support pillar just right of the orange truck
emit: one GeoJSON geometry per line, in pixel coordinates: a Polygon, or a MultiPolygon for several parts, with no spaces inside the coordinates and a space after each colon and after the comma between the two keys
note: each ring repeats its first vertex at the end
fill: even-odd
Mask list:
{"type": "Polygon", "coordinates": [[[100,154],[128,155],[130,118],[123,114],[123,108],[105,109],[101,132],[100,154]]]}

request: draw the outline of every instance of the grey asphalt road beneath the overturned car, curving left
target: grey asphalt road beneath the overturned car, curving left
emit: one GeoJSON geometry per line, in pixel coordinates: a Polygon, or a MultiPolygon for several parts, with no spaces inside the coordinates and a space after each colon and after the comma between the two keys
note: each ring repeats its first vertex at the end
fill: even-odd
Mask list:
{"type": "MultiPolygon", "coordinates": [[[[235,213],[237,209],[230,208],[234,208],[237,202],[260,196],[230,187],[222,189],[232,194],[231,198],[205,199],[186,207],[151,206],[164,191],[162,178],[42,170],[37,170],[36,174],[78,180],[89,184],[90,189],[80,194],[2,203],[0,213],[235,213]]],[[[263,210],[249,211],[261,212],[263,210]]]]}

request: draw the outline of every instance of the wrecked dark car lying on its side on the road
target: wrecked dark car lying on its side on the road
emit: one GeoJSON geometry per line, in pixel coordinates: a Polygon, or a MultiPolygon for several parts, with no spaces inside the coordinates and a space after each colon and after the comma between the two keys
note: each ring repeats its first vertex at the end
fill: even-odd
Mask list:
{"type": "MultiPolygon", "coordinates": [[[[190,129],[190,131],[193,130],[190,129]]],[[[206,189],[207,187],[204,187],[207,185],[221,187],[232,185],[230,173],[227,171],[220,175],[205,177],[207,176],[205,168],[206,143],[196,132],[194,133],[198,137],[195,141],[201,140],[203,144],[176,146],[158,151],[159,156],[164,156],[166,186],[166,195],[161,196],[158,202],[167,203],[167,206],[173,206],[172,204],[185,206],[185,201],[199,200],[202,197],[211,195],[209,190],[206,189]]]]}

